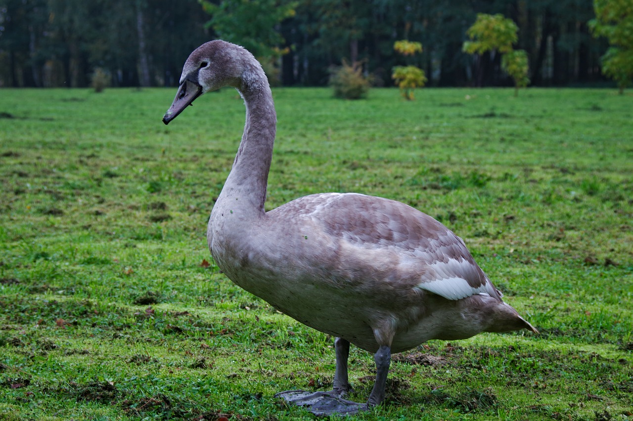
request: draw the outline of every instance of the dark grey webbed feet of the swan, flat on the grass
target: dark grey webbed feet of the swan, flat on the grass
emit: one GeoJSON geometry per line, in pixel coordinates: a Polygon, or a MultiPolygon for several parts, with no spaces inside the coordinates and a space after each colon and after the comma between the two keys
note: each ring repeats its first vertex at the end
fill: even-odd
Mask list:
{"type": "Polygon", "coordinates": [[[275,398],[294,403],[297,406],[306,406],[308,410],[319,417],[327,415],[351,415],[359,411],[366,411],[366,403],[356,403],[341,398],[342,394],[336,391],[306,392],[303,390],[288,390],[275,394],[275,398]]]}

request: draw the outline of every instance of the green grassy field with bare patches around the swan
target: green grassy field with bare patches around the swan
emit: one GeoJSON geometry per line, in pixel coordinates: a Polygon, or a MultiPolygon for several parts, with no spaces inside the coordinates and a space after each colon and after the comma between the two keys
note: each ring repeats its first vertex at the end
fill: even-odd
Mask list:
{"type": "MultiPolygon", "coordinates": [[[[225,278],[206,221],[244,122],[234,90],[170,126],[174,89],[0,90],[0,419],[291,420],[332,338],[225,278]]],[[[359,420],[633,419],[633,97],[273,91],[268,209],[316,192],[417,207],[541,334],[394,356],[359,420]]],[[[355,400],[373,358],[353,348],[355,400]]]]}

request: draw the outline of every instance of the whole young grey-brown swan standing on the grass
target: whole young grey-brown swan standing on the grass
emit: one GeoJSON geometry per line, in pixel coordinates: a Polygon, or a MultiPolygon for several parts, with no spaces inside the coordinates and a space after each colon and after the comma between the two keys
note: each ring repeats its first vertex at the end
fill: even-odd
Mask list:
{"type": "Polygon", "coordinates": [[[230,86],[246,104],[244,135],[207,228],[226,276],[293,319],[335,337],[331,391],[276,396],[317,415],[379,405],[391,354],[429,339],[536,329],[501,300],[464,242],[408,205],[357,193],[321,193],[266,212],[277,116],[266,75],[246,49],[206,42],[185,61],[168,124],[206,92],[230,86]],[[367,403],[344,399],[349,344],[374,353],[367,403]]]}

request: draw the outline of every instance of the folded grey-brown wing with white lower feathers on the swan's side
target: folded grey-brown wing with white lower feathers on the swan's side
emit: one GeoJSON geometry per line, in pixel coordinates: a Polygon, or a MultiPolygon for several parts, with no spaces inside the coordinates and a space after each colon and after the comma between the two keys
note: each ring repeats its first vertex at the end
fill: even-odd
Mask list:
{"type": "Polygon", "coordinates": [[[461,238],[401,202],[358,193],[322,193],[271,212],[303,215],[322,229],[320,235],[341,244],[339,250],[351,256],[354,265],[362,260],[362,265],[375,266],[385,282],[406,283],[448,300],[479,293],[501,300],[461,238]],[[382,271],[385,266],[393,268],[391,274],[382,271]]]}

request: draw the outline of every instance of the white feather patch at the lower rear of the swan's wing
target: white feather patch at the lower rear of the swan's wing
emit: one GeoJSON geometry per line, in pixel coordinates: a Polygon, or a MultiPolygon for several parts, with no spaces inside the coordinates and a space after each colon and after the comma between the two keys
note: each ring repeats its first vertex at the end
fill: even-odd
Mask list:
{"type": "Polygon", "coordinates": [[[464,277],[475,272],[475,268],[464,260],[451,259],[446,263],[435,262],[430,264],[428,269],[422,277],[422,282],[417,285],[417,288],[421,290],[441,295],[448,300],[460,300],[480,293],[496,296],[492,283],[487,280],[477,288],[468,284],[464,277]]]}

